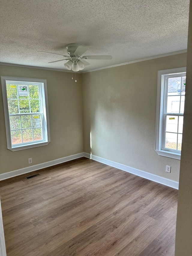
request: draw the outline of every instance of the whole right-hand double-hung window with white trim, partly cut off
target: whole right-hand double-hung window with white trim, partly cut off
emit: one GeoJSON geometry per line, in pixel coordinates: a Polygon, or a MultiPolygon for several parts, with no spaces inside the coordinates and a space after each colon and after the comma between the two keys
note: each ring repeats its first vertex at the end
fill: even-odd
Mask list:
{"type": "Polygon", "coordinates": [[[181,158],[186,68],[158,71],[156,141],[158,155],[181,158]]]}

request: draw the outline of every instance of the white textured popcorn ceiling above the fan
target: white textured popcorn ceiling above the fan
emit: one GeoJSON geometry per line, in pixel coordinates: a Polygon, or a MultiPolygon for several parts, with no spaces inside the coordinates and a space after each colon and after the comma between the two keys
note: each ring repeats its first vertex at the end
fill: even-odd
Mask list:
{"type": "MultiPolygon", "coordinates": [[[[83,71],[187,49],[189,0],[1,0],[0,62],[65,70],[66,44],[89,48],[83,71]],[[61,58],[60,58],[61,57],[61,58]]],[[[67,71],[67,70],[66,70],[67,71]]]]}

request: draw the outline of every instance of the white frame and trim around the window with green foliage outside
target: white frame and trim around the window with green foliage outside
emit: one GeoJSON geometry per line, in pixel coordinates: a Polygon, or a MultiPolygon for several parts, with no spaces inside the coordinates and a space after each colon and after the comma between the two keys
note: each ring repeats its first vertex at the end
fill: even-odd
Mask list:
{"type": "MultiPolygon", "coordinates": [[[[47,96],[47,83],[46,79],[35,79],[35,78],[24,78],[24,77],[4,77],[1,76],[1,86],[3,93],[3,106],[4,106],[4,117],[5,117],[5,128],[6,128],[6,137],[7,137],[7,149],[11,151],[17,151],[22,149],[29,149],[38,146],[48,145],[50,142],[50,126],[49,126],[49,107],[48,107],[48,96],[47,96]],[[32,141],[25,144],[16,144],[15,146],[11,143],[11,132],[10,132],[10,121],[9,121],[9,110],[7,102],[7,89],[6,81],[16,81],[16,82],[27,82],[29,83],[38,83],[41,86],[40,98],[43,103],[43,120],[42,120],[42,132],[44,133],[44,139],[41,141],[32,141]]],[[[25,113],[27,114],[27,113],[25,113]]]]}

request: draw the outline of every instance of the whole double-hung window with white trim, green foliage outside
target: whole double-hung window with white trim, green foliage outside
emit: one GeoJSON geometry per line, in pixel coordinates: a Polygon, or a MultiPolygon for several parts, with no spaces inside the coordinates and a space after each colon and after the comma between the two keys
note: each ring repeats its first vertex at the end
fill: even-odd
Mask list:
{"type": "Polygon", "coordinates": [[[46,80],[1,77],[7,148],[11,151],[50,142],[46,80]]]}

